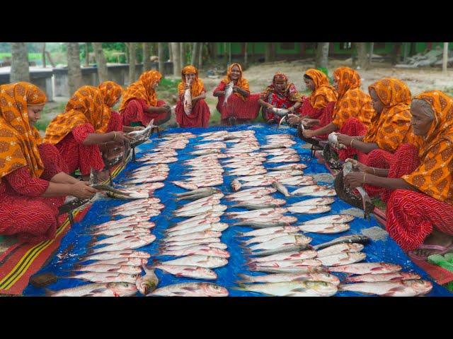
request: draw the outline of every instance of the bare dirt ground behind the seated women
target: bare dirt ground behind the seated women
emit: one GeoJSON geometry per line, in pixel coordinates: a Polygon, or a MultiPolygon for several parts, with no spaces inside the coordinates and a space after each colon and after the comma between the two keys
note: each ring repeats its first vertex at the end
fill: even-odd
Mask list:
{"type": "MultiPolygon", "coordinates": [[[[351,61],[343,60],[330,60],[328,66],[328,74],[332,76],[333,71],[339,66],[352,66],[351,61]]],[[[273,63],[255,64],[250,66],[244,71],[245,78],[250,83],[250,89],[252,93],[258,93],[266,85],[270,84],[273,75],[277,71],[286,73],[289,81],[294,83],[296,87],[305,95],[309,92],[306,90],[306,86],[303,81],[303,74],[306,69],[313,68],[314,61],[311,60],[297,60],[297,61],[275,61],[273,63]]],[[[206,102],[211,110],[210,125],[219,124],[219,112],[215,108],[217,104],[217,98],[212,96],[212,91],[218,85],[219,81],[222,80],[222,76],[217,78],[208,78],[206,72],[210,70],[210,66],[205,67],[200,71],[200,78],[205,83],[207,90],[206,102]]],[[[367,90],[368,85],[377,81],[379,78],[385,76],[391,76],[399,78],[405,81],[411,93],[416,95],[423,90],[444,90],[450,94],[453,94],[453,71],[449,71],[447,75],[442,74],[440,68],[424,68],[424,69],[397,69],[389,63],[373,62],[372,66],[367,70],[358,70],[362,77],[362,89],[367,90]]],[[[179,80],[179,77],[167,76],[168,79],[179,80]]],[[[176,105],[176,88],[173,90],[159,90],[157,89],[158,97],[170,102],[172,105],[176,105]]],[[[64,104],[67,102],[67,98],[57,97],[55,102],[50,102],[45,107],[45,114],[43,114],[38,129],[45,129],[48,122],[59,114],[64,109],[64,104]]],[[[257,122],[262,121],[260,117],[257,122]]],[[[176,126],[174,117],[168,121],[168,126],[176,126]]]]}

